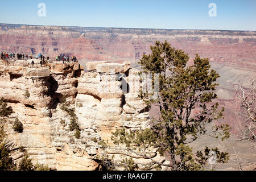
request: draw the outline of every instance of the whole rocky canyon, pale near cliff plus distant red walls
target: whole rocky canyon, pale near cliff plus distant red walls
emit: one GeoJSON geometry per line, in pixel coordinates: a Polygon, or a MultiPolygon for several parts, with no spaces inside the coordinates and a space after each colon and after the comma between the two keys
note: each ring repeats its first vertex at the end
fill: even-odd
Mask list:
{"type": "MultiPolygon", "coordinates": [[[[158,115],[154,106],[148,110],[135,92],[141,87],[137,62],[143,53],[151,53],[150,46],[157,40],[167,40],[172,47],[188,53],[190,65],[196,53],[209,58],[221,76],[216,92],[217,101],[225,107],[225,118],[218,123],[228,123],[233,134],[241,134],[241,102],[236,88],[237,84],[249,87],[255,81],[256,31],[0,24],[0,52],[33,57],[42,53],[51,60],[46,67],[31,67],[31,60],[0,63],[0,98],[15,111],[6,125],[15,161],[23,156],[15,149],[23,146],[34,163],[47,163],[52,169],[99,169],[95,159],[102,152],[98,141],[110,139],[112,131],[121,126],[144,129],[150,118],[158,115]],[[79,63],[60,64],[53,61],[56,55],[76,56],[79,63]],[[117,80],[123,73],[127,77],[117,80]],[[129,84],[129,93],[122,91],[123,83],[129,84]],[[29,98],[23,96],[26,90],[29,98]],[[80,139],[68,129],[71,118],[60,108],[62,97],[75,109],[80,139]],[[22,134],[11,129],[15,118],[24,125],[22,134]]],[[[39,64],[39,60],[34,61],[39,64]]],[[[208,139],[195,146],[209,141],[218,143],[208,139]]],[[[250,148],[250,144],[238,148],[242,151],[245,146],[250,148]]]]}

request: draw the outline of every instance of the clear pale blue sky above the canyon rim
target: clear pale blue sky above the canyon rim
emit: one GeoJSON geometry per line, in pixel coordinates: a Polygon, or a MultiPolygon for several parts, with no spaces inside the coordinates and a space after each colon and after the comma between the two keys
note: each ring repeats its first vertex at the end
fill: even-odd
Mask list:
{"type": "Polygon", "coordinates": [[[0,23],[50,26],[256,30],[255,0],[9,0],[0,3],[0,23]],[[38,4],[46,16],[38,16],[38,4]],[[210,17],[209,3],[217,6],[210,17]]]}

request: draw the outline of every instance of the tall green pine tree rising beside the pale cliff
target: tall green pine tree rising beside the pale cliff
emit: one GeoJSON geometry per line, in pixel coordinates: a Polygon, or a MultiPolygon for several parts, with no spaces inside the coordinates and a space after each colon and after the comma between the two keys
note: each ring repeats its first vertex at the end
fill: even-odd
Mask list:
{"type": "MultiPolygon", "coordinates": [[[[150,55],[143,55],[139,64],[143,73],[153,74],[153,81],[154,74],[159,74],[159,97],[150,100],[151,93],[141,93],[140,96],[148,105],[158,105],[160,117],[152,119],[150,129],[135,132],[118,129],[112,136],[114,147],[121,149],[123,155],[136,154],[150,159],[151,163],[144,169],[164,166],[171,170],[204,169],[211,150],[217,154],[216,162],[226,163],[228,153],[220,152],[218,148],[209,150],[205,147],[195,153],[189,147],[189,143],[208,132],[205,126],[223,117],[224,107],[218,109],[218,103],[214,101],[218,73],[210,69],[208,59],[201,59],[199,55],[196,55],[193,65],[188,66],[189,56],[168,42],[156,42],[151,51],[150,55]],[[170,163],[152,159],[148,155],[152,148],[170,163]]],[[[220,126],[215,127],[215,134],[221,135],[222,139],[228,138],[228,125],[221,127],[224,135],[221,135],[220,126]]],[[[133,168],[131,164],[137,165],[129,160],[129,168],[133,168]]]]}

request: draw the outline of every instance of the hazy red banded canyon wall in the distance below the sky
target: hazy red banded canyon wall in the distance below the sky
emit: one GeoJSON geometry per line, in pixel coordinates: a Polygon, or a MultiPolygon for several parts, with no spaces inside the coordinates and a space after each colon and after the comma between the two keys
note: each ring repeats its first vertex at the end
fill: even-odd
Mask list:
{"type": "MultiPolygon", "coordinates": [[[[131,62],[137,64],[143,53],[150,53],[156,40],[167,40],[171,46],[183,49],[193,64],[196,53],[209,57],[212,68],[220,74],[218,102],[225,106],[225,121],[234,133],[241,119],[236,84],[249,86],[255,80],[256,31],[228,30],[155,30],[138,28],[57,27],[0,24],[0,51],[39,53],[50,56],[76,56],[84,67],[90,61],[131,62]]],[[[156,110],[151,109],[154,117],[156,110]]],[[[220,121],[221,122],[221,121],[220,121]]]]}

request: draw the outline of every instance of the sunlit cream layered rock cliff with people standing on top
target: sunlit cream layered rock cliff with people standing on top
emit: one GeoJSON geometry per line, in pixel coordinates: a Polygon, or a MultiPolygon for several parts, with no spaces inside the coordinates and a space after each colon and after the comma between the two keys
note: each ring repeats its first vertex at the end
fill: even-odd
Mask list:
{"type": "Polygon", "coordinates": [[[118,127],[148,127],[148,108],[138,98],[138,70],[131,69],[129,61],[88,63],[89,72],[79,63],[40,67],[32,66],[32,60],[0,61],[0,98],[14,110],[5,129],[15,162],[23,157],[18,150],[22,146],[35,164],[57,170],[97,170],[100,140],[110,139],[118,127]],[[64,97],[64,104],[75,111],[80,138],[69,130],[72,116],[61,109],[64,97]],[[15,118],[23,123],[23,133],[12,129],[15,118]]]}

